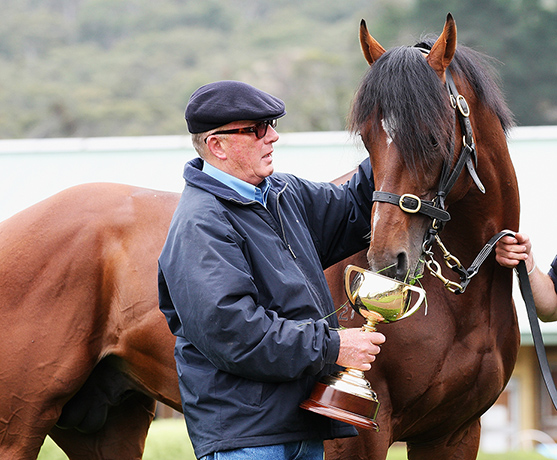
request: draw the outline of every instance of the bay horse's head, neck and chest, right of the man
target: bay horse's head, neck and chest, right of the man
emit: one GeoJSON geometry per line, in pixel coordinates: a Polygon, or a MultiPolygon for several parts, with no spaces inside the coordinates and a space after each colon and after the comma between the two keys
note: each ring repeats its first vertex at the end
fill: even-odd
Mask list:
{"type": "MultiPolygon", "coordinates": [[[[360,43],[370,68],[351,128],[369,152],[376,192],[369,251],[349,262],[404,280],[425,261],[443,283],[426,273],[427,315],[378,327],[387,341],[367,377],[381,402],[380,431],[328,443],[327,459],[385,459],[395,441],[407,443],[411,460],[475,459],[480,416],[504,389],[519,347],[512,273],[488,257],[465,290],[470,279],[443,274],[440,248],[468,267],[492,236],[518,229],[505,136],[512,117],[485,59],[457,49],[450,15],[435,42],[385,51],[362,21],[360,43]]],[[[330,271],[341,305],[342,267],[330,271]]],[[[348,310],[340,318],[363,322],[348,310]]]]}

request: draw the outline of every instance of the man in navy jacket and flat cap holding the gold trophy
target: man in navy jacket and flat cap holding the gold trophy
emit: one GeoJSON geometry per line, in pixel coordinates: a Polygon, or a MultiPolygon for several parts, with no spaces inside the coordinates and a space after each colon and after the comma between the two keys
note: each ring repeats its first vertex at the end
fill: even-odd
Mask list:
{"type": "Polygon", "coordinates": [[[273,174],[284,103],[250,85],[202,86],[186,108],[200,158],[159,259],[161,310],[190,439],[204,459],[320,459],[356,435],[299,408],[340,366],[368,370],[385,337],[338,330],[323,268],[368,244],[369,160],[338,187],[273,174]]]}

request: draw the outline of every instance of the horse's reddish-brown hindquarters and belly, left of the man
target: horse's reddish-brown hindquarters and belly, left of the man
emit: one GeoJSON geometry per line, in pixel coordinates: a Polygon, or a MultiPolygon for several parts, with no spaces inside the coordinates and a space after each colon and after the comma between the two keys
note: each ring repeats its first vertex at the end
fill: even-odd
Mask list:
{"type": "Polygon", "coordinates": [[[47,434],[72,460],[141,458],[155,400],[181,410],[157,295],[179,197],[89,184],[0,223],[1,459],[47,434]]]}

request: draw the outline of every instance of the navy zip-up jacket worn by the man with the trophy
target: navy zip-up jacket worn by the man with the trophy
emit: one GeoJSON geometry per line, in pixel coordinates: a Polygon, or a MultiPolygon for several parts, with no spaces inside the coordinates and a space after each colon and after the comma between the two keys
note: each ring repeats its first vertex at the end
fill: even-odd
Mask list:
{"type": "Polygon", "coordinates": [[[352,436],[300,409],[338,370],[340,339],[323,269],[365,248],[369,160],[343,186],[273,174],[267,208],[189,162],[159,259],[159,299],[198,457],[352,436]]]}

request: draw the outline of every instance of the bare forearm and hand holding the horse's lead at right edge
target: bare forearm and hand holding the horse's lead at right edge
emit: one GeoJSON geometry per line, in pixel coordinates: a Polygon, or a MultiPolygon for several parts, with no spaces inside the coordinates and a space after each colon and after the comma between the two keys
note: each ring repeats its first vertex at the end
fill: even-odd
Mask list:
{"type": "Polygon", "coordinates": [[[528,278],[532,287],[536,313],[545,322],[557,320],[557,256],[549,273],[543,273],[537,266],[532,252],[532,243],[525,233],[515,237],[505,236],[495,247],[495,259],[503,267],[514,268],[521,260],[526,263],[528,278]]]}

